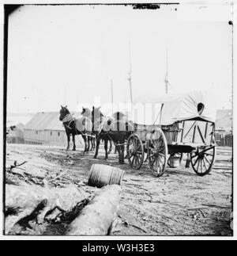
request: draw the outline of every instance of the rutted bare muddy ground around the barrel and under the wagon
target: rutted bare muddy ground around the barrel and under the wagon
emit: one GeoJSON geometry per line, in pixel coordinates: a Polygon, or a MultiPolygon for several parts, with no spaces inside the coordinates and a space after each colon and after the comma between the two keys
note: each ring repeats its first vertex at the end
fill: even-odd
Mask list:
{"type": "MultiPolygon", "coordinates": [[[[39,182],[42,176],[55,186],[85,184],[93,163],[125,170],[119,219],[111,235],[232,234],[231,148],[217,148],[215,166],[204,178],[198,177],[191,167],[186,169],[185,162],[176,169],[167,167],[163,177],[155,178],[146,163],[141,170],[132,170],[127,161],[119,165],[115,154],[109,155],[107,161],[103,157],[103,148],[98,159],[93,159],[93,153],[83,155],[82,150],[66,151],[62,147],[7,144],[6,148],[6,166],[13,165],[15,160],[18,163],[27,161],[14,170],[20,174],[36,174],[39,182]]],[[[32,184],[33,181],[22,178],[21,182],[32,184]]],[[[24,234],[32,235],[31,232],[24,234]]],[[[39,234],[40,231],[36,235],[39,234]]],[[[62,232],[52,229],[47,234],[62,232]]]]}

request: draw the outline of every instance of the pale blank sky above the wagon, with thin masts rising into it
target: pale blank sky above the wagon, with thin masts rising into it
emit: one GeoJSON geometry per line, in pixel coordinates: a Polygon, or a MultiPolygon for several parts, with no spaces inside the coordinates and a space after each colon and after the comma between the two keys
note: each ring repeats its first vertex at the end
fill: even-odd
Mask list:
{"type": "Polygon", "coordinates": [[[228,4],[21,6],[9,16],[7,112],[103,105],[111,79],[114,102],[130,102],[130,55],[134,99],[165,94],[168,68],[169,94],[208,90],[230,109],[230,20],[228,4]]]}

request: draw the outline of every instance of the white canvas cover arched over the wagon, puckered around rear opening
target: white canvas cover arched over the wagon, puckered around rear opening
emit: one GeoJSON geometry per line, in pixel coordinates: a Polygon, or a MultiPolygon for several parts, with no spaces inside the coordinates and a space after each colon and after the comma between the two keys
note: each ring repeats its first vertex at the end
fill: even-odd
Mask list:
{"type": "MultiPolygon", "coordinates": [[[[138,103],[138,101],[136,101],[138,103]]],[[[156,124],[169,125],[179,120],[190,120],[200,117],[202,120],[215,122],[216,108],[215,99],[207,92],[193,91],[182,95],[165,95],[163,97],[146,98],[146,102],[154,104],[156,112],[156,124]],[[161,117],[159,115],[163,104],[161,117]],[[198,106],[202,106],[199,111],[198,106]]],[[[141,101],[140,101],[141,103],[141,101]]],[[[143,101],[145,103],[145,101],[143,101]]],[[[138,124],[149,124],[138,121],[138,124]]]]}

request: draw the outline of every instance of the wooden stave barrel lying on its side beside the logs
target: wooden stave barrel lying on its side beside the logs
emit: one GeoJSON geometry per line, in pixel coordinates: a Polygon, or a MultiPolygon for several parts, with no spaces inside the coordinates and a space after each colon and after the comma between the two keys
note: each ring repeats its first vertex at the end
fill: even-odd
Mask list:
{"type": "Polygon", "coordinates": [[[103,164],[93,164],[88,177],[88,185],[96,186],[97,188],[111,184],[120,185],[123,175],[124,170],[119,168],[103,164]]]}

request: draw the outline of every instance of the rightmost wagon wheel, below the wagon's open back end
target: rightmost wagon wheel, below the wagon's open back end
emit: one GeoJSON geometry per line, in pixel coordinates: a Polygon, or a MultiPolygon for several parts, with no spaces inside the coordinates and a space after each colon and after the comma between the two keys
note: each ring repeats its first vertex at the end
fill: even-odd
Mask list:
{"type": "Polygon", "coordinates": [[[196,174],[205,176],[212,170],[216,158],[216,146],[198,148],[190,153],[192,167],[196,174]]]}

